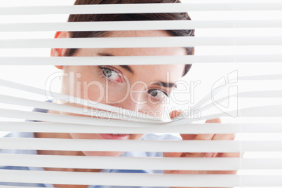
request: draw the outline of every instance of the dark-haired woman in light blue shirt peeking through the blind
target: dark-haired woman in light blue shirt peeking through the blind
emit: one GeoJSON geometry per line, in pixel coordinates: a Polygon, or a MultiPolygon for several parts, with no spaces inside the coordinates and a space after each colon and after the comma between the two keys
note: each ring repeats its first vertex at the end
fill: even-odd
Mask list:
{"type": "MultiPolygon", "coordinates": [[[[138,3],[180,3],[178,0],[76,0],[75,4],[138,4],[138,3]]],[[[155,13],[155,14],[119,14],[119,15],[69,15],[69,22],[90,21],[124,21],[124,20],[190,20],[187,13],[155,13]]],[[[157,36],[194,36],[194,30],[170,31],[119,31],[119,32],[57,32],[55,38],[81,37],[157,37],[157,36]]],[[[52,57],[60,56],[143,56],[143,55],[193,55],[194,48],[83,48],[83,49],[52,49],[52,57]]],[[[61,93],[74,95],[86,100],[94,100],[107,105],[130,109],[148,114],[148,112],[165,112],[166,100],[175,88],[175,83],[189,71],[191,65],[123,65],[123,66],[56,66],[63,72],[74,76],[70,81],[62,79],[61,93]],[[168,76],[169,74],[169,76],[168,76]],[[89,84],[91,81],[100,83],[89,84]],[[100,87],[102,86],[102,87],[100,87]],[[101,89],[102,88],[102,89],[101,89]],[[130,88],[130,89],[128,89],[130,88]],[[102,93],[102,94],[101,94],[102,93]],[[129,93],[129,95],[127,95],[129,93]]],[[[53,101],[60,103],[60,101],[53,101]]],[[[78,106],[74,104],[67,104],[78,106]]],[[[78,106],[81,107],[81,106],[78,106]]],[[[43,111],[46,112],[46,111],[43,111]]],[[[49,110],[51,114],[68,114],[49,110]]],[[[170,113],[170,118],[180,112],[170,113]]],[[[156,114],[155,114],[156,115],[156,114]]],[[[220,119],[206,121],[220,122],[220,119]]],[[[74,138],[74,139],[111,139],[111,140],[175,140],[170,135],[141,134],[79,134],[79,133],[34,133],[41,138],[74,138]]],[[[233,140],[234,135],[181,135],[183,140],[233,140]]],[[[230,157],[238,154],[192,154],[192,153],[154,153],[145,152],[68,152],[68,151],[37,151],[36,154],[74,155],[74,156],[165,156],[165,157],[230,157]]],[[[30,170],[30,169],[29,169],[30,170]]],[[[42,169],[41,169],[42,170],[42,169]]],[[[58,169],[44,170],[91,171],[105,172],[101,169],[58,169]]],[[[108,170],[107,172],[129,173],[160,173],[148,170],[108,170]]],[[[168,170],[164,173],[236,173],[235,171],[180,171],[168,170]]],[[[52,185],[40,184],[40,187],[52,185]]],[[[53,184],[54,187],[88,187],[80,185],[53,184]]],[[[95,187],[95,186],[89,186],[95,187]]],[[[98,186],[97,186],[98,187],[98,186]]]]}

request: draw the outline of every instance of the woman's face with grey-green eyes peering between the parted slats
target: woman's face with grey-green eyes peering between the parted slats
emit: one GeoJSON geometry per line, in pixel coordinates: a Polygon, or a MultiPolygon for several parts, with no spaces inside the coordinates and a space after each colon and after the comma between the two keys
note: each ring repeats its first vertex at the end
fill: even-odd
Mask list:
{"type": "MultiPolygon", "coordinates": [[[[170,36],[163,31],[112,32],[109,37],[170,36]]],[[[184,48],[83,48],[74,56],[187,55],[184,48]]],[[[74,75],[62,79],[62,93],[103,104],[161,116],[184,65],[65,66],[74,75]]],[[[78,106],[78,105],[74,105],[78,106]]],[[[78,106],[81,107],[81,106],[78,106]]],[[[86,107],[87,108],[87,107],[86,107]]],[[[67,114],[60,112],[61,114],[67,114]]],[[[73,115],[73,114],[72,114],[73,115]]],[[[110,122],[110,121],[109,121],[110,122]]],[[[70,134],[76,139],[137,140],[143,135],[70,134]]],[[[83,152],[91,156],[119,156],[122,152],[83,152]]]]}

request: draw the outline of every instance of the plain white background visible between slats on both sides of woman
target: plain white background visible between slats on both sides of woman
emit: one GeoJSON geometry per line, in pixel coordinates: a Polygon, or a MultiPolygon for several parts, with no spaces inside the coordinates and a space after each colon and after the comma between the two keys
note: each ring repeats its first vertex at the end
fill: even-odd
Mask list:
{"type": "MultiPolygon", "coordinates": [[[[232,1],[184,1],[184,2],[232,2],[232,1]]],[[[236,1],[238,2],[238,1],[236,1]]],[[[246,2],[246,1],[243,1],[246,2]]],[[[258,2],[258,1],[248,1],[258,2]]],[[[266,1],[261,1],[266,2],[266,1]]],[[[270,1],[269,1],[270,2],[270,1]]],[[[271,1],[274,2],[274,1],[271,1]]],[[[280,1],[276,1],[280,2],[280,1]]],[[[0,7],[6,6],[52,6],[52,5],[72,5],[74,1],[0,1],[0,7]]],[[[281,11],[236,11],[236,12],[192,12],[189,13],[192,20],[279,20],[282,18],[281,11]]],[[[1,23],[16,23],[16,22],[66,22],[67,15],[20,15],[20,16],[0,16],[1,23]]],[[[55,32],[13,32],[0,33],[1,39],[51,39],[55,32]]],[[[253,28],[253,29],[196,29],[196,36],[281,36],[282,28],[253,28]]],[[[247,46],[247,47],[197,47],[196,55],[229,55],[229,54],[281,54],[281,46],[247,46]]],[[[0,56],[34,56],[34,57],[48,57],[50,56],[50,49],[0,49],[0,56]]],[[[40,62],[39,62],[40,63],[40,62]]],[[[201,100],[204,95],[210,93],[213,84],[227,74],[238,71],[239,76],[259,75],[259,74],[281,74],[281,63],[241,63],[241,64],[194,64],[191,72],[184,77],[185,81],[201,81],[199,86],[195,88],[195,101],[201,100]]],[[[53,66],[1,66],[0,79],[15,81],[29,86],[38,88],[45,88],[46,79],[54,72],[59,72],[53,66]]],[[[54,83],[52,90],[59,92],[60,83],[54,83]]],[[[178,88],[182,90],[183,88],[178,88]]],[[[281,81],[245,81],[238,83],[240,91],[250,90],[281,90],[281,81]]],[[[32,98],[34,100],[46,100],[46,98],[30,93],[20,92],[18,90],[11,90],[0,86],[1,94],[13,95],[22,98],[32,98]]],[[[224,90],[222,95],[228,95],[228,90],[224,90]]],[[[179,98],[185,100],[190,97],[189,93],[178,94],[179,98]]],[[[281,105],[281,98],[275,99],[239,99],[239,109],[242,107],[255,107],[263,105],[281,105]]],[[[176,105],[179,109],[187,109],[190,105],[176,105]]],[[[222,104],[224,105],[224,104],[222,104]]],[[[226,105],[226,104],[225,104],[226,105]]],[[[175,106],[175,104],[171,105],[175,106]]],[[[1,108],[31,110],[29,107],[15,107],[13,105],[1,104],[1,108]]],[[[213,112],[218,112],[213,109],[213,112]]],[[[21,121],[17,119],[4,119],[1,121],[21,121]]],[[[222,122],[236,123],[236,122],[254,122],[254,123],[282,123],[281,118],[248,118],[248,119],[234,119],[232,117],[222,118],[222,122]]],[[[282,140],[282,134],[240,134],[236,137],[237,140],[282,140]]],[[[246,153],[245,157],[282,157],[281,152],[275,154],[269,153],[246,153]]],[[[260,170],[242,171],[241,174],[282,174],[281,170],[260,170]]]]}

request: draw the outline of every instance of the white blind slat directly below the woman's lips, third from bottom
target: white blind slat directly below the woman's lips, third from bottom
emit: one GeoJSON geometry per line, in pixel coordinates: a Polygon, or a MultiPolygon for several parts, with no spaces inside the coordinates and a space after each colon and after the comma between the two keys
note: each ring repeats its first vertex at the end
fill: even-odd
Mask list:
{"type": "Polygon", "coordinates": [[[1,137],[3,149],[112,152],[282,152],[282,141],[87,140],[1,137]],[[34,144],[36,143],[36,144],[34,144]]]}

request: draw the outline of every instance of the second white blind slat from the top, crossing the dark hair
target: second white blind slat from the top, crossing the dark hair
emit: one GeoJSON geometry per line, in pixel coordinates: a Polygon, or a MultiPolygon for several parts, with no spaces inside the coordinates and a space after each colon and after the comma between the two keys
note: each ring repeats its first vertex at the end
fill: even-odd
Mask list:
{"type": "Polygon", "coordinates": [[[119,22],[53,22],[0,24],[0,32],[83,32],[83,31],[130,31],[169,30],[200,28],[261,28],[282,27],[282,20],[165,20],[119,22]]]}

